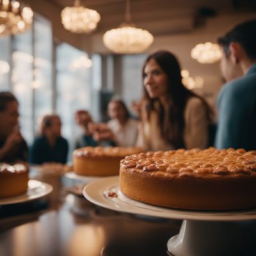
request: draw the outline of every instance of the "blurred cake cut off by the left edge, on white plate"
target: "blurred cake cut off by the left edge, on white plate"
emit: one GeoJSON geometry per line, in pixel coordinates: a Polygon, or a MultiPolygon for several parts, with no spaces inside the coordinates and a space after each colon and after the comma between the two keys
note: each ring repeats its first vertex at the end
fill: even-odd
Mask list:
{"type": "Polygon", "coordinates": [[[0,198],[21,195],[27,188],[28,166],[0,163],[0,198]]]}

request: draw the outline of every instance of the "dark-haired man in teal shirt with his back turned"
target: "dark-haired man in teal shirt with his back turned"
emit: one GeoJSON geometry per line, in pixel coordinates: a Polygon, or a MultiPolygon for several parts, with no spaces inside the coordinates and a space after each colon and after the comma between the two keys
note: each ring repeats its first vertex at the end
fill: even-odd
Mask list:
{"type": "Polygon", "coordinates": [[[238,24],[218,42],[221,72],[229,83],[218,96],[216,148],[256,149],[256,20],[238,24]],[[237,76],[237,68],[243,76],[237,76]]]}

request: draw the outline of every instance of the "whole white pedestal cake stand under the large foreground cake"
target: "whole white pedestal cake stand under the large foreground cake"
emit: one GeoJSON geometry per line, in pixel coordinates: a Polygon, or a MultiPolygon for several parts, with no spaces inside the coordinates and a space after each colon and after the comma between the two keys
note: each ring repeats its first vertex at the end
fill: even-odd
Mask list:
{"type": "Polygon", "coordinates": [[[83,195],[93,204],[114,211],[183,220],[179,234],[171,237],[167,243],[168,252],[172,255],[256,255],[256,225],[252,221],[256,220],[256,209],[185,211],[144,204],[131,200],[120,192],[118,176],[88,184],[83,195]]]}

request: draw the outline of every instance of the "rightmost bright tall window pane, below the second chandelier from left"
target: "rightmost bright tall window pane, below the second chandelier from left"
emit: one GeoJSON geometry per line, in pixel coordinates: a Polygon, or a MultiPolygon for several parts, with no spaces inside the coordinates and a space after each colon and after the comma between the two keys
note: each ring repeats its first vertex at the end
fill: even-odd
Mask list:
{"type": "MultiPolygon", "coordinates": [[[[68,44],[57,46],[56,85],[57,113],[63,124],[62,134],[69,141],[74,141],[76,125],[74,113],[77,109],[91,106],[91,68],[86,53],[68,44]],[[86,64],[87,63],[87,64],[86,64]]],[[[70,143],[70,150],[73,145],[70,143]]]]}

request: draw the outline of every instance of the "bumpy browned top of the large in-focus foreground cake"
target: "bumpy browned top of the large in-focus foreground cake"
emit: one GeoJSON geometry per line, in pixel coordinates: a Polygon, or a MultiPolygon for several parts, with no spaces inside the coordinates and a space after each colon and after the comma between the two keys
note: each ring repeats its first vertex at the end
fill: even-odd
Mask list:
{"type": "Polygon", "coordinates": [[[256,151],[243,148],[217,150],[170,150],[140,153],[122,159],[124,168],[138,172],[165,172],[183,176],[211,173],[216,175],[256,175],[256,151]]]}

